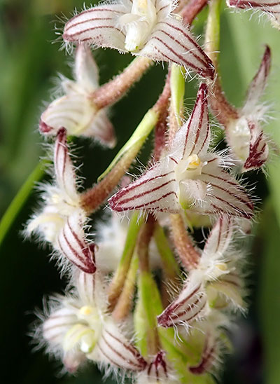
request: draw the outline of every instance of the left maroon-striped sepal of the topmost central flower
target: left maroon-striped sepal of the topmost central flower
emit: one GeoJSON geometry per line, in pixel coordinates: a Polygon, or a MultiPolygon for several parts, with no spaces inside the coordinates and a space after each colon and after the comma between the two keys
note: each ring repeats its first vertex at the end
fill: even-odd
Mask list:
{"type": "Polygon", "coordinates": [[[122,4],[89,8],[66,22],[63,39],[125,50],[125,33],[118,27],[118,18],[127,12],[127,7],[122,4]]]}

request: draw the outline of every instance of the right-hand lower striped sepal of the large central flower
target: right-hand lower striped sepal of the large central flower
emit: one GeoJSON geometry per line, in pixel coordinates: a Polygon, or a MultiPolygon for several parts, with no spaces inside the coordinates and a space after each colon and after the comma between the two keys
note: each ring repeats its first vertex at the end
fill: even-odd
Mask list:
{"type": "MultiPolygon", "coordinates": [[[[209,184],[207,196],[201,207],[202,212],[251,218],[253,203],[235,178],[218,167],[218,161],[218,158],[209,161],[199,177],[209,184]]],[[[200,207],[197,207],[197,211],[200,211],[200,207]]]]}

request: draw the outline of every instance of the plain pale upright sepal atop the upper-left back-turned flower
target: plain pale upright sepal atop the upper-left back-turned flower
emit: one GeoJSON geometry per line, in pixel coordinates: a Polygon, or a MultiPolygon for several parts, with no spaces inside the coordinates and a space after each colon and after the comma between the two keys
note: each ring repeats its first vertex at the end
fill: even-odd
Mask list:
{"type": "Polygon", "coordinates": [[[78,44],[75,57],[75,78],[81,88],[92,92],[99,87],[99,71],[90,47],[78,44]]]}

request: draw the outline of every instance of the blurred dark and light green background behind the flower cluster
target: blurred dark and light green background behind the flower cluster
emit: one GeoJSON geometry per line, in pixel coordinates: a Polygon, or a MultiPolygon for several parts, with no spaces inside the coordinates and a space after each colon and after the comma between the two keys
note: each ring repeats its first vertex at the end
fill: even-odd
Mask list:
{"type": "MultiPolygon", "coordinates": [[[[86,5],[90,5],[85,1],[86,5]]],[[[55,76],[71,76],[71,57],[59,50],[55,27],[57,19],[67,18],[79,0],[0,0],[0,214],[3,214],[20,186],[36,167],[43,154],[43,139],[37,132],[42,100],[49,101],[55,76]]],[[[225,5],[223,6],[223,9],[225,5]]],[[[195,33],[202,34],[207,12],[195,20],[195,33]]],[[[251,18],[251,13],[223,11],[221,32],[221,74],[225,91],[233,103],[241,106],[246,87],[258,69],[268,43],[272,48],[272,74],[266,100],[272,105],[274,120],[267,132],[280,146],[280,32],[272,29],[266,18],[251,18]]],[[[201,39],[201,42],[203,40],[201,39]]],[[[101,83],[130,62],[130,55],[113,50],[96,50],[101,83]]],[[[96,181],[118,149],[130,137],[146,110],[153,105],[164,83],[162,66],[153,67],[111,109],[118,146],[104,150],[90,141],[78,141],[78,155],[84,165],[81,172],[89,186],[96,181]],[[98,161],[96,160],[98,159],[98,161]]],[[[186,106],[195,97],[195,81],[186,85],[186,106]]],[[[141,153],[144,161],[151,144],[141,153]]],[[[269,176],[261,172],[247,175],[262,199],[251,238],[248,256],[251,307],[246,318],[239,319],[232,330],[235,352],[225,359],[221,383],[280,383],[280,160],[272,157],[269,176]]],[[[49,261],[48,249],[39,249],[23,240],[23,224],[37,205],[36,193],[16,218],[1,244],[1,378],[3,383],[101,383],[94,366],[75,377],[59,376],[59,364],[43,352],[31,352],[28,336],[34,321],[34,308],[41,308],[42,296],[62,292],[55,262],[49,261]]],[[[110,380],[106,381],[111,383],[110,380]]]]}

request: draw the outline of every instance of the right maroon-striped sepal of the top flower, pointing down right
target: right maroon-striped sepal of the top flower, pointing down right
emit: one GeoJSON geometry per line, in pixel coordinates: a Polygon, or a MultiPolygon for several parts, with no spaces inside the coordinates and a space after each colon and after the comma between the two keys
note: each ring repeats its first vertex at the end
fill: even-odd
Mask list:
{"type": "Polygon", "coordinates": [[[204,78],[214,78],[211,60],[197,44],[189,29],[175,18],[158,22],[139,55],[152,60],[174,62],[204,78]]]}

